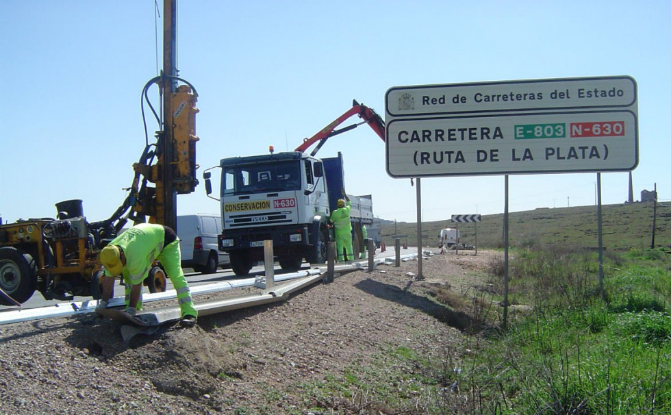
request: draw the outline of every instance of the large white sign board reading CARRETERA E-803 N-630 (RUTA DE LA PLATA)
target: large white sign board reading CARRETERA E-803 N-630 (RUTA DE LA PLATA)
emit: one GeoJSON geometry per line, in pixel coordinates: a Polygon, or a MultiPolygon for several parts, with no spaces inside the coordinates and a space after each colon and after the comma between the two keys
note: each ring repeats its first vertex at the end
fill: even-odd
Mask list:
{"type": "Polygon", "coordinates": [[[386,114],[392,177],[631,171],[638,164],[631,77],[396,87],[386,114]],[[415,91],[415,106],[396,116],[402,105],[394,94],[407,90],[415,91]],[[457,95],[466,101],[448,105],[457,95]]]}

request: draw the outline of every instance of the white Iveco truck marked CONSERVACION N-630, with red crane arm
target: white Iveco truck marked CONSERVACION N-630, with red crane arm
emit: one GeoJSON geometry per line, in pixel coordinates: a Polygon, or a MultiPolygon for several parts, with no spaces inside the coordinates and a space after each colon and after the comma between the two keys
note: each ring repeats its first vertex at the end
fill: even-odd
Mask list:
{"type": "MultiPolygon", "coordinates": [[[[311,264],[326,262],[327,242],[334,240],[329,217],[342,197],[344,169],[340,152],[333,158],[314,155],[327,138],[362,124],[335,130],[353,114],[364,118],[362,123],[384,137],[379,115],[354,101],[348,112],[305,139],[296,151],[273,153],[271,147],[269,154],[220,161],[223,229],[219,248],[229,253],[236,275],[248,275],[256,262],[264,260],[264,240],[273,241],[275,258],[283,270],[296,271],[303,258],[311,264]],[[315,142],[319,142],[318,147],[305,154],[315,142]]],[[[208,195],[212,193],[210,177],[208,171],[203,174],[208,195]]],[[[352,203],[353,250],[358,257],[365,249],[362,227],[373,221],[372,197],[348,197],[352,203]]]]}

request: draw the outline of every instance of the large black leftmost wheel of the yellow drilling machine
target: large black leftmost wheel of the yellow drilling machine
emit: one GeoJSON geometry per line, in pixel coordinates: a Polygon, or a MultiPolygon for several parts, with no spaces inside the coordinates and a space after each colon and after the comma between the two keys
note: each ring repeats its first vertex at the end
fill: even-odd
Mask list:
{"type": "MultiPolygon", "coordinates": [[[[25,303],[37,286],[37,266],[28,253],[14,247],[0,248],[0,288],[19,303],[25,303]]],[[[0,304],[14,305],[0,294],[0,304]]]]}

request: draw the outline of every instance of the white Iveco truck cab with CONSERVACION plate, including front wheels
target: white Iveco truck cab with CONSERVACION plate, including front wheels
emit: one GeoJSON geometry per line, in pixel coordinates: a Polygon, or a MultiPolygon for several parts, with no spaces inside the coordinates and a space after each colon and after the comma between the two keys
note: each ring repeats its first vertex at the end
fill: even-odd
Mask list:
{"type": "Polygon", "coordinates": [[[264,259],[264,240],[283,269],[325,262],[331,207],[321,160],[288,152],[226,158],[220,168],[220,249],[236,275],[264,259]]]}

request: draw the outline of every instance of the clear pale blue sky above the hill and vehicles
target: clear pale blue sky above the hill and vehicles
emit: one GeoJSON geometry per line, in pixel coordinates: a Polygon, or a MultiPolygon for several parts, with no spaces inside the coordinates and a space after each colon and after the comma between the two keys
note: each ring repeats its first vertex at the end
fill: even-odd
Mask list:
{"type": "MultiPolygon", "coordinates": [[[[122,203],[144,148],[140,92],[157,75],[156,24],[160,34],[152,0],[0,2],[4,221],[53,217],[68,199],[99,221],[122,203]]],[[[181,1],[178,56],[199,92],[198,177],[221,158],[294,149],[352,99],[384,114],[392,86],[629,75],[640,125],[634,198],[656,183],[671,200],[666,0],[181,1]]],[[[416,220],[415,188],[387,175],[372,130],[331,138],[319,155],[338,151],[349,194],[372,194],[381,218],[416,220]]],[[[422,179],[422,217],[501,213],[503,184],[422,179]]],[[[513,212],[594,205],[596,174],[511,175],[509,184],[513,212]]],[[[622,203],[628,188],[628,173],[602,174],[604,204],[622,203]]],[[[177,208],[218,212],[202,184],[177,208]]]]}

